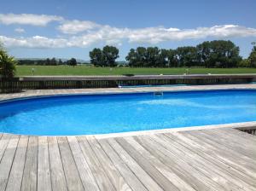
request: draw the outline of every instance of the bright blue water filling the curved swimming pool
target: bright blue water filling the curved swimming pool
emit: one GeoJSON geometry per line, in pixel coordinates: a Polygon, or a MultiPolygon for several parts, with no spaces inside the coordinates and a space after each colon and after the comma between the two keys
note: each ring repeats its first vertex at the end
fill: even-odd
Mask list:
{"type": "Polygon", "coordinates": [[[51,96],[0,103],[0,132],[88,135],[256,121],[256,90],[51,96]]]}

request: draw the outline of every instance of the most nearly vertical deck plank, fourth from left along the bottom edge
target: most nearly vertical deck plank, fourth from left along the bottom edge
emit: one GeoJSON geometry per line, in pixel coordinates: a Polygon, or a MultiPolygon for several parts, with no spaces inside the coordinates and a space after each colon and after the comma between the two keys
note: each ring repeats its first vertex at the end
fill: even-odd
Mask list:
{"type": "Polygon", "coordinates": [[[38,136],[38,190],[51,190],[47,136],[38,136]]]}

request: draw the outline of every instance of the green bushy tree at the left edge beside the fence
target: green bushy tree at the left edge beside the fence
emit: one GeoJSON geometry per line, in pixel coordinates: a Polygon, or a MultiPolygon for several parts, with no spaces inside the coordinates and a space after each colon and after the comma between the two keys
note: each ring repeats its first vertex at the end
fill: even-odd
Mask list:
{"type": "Polygon", "coordinates": [[[15,65],[17,61],[0,46],[0,77],[13,78],[15,76],[15,65]]]}

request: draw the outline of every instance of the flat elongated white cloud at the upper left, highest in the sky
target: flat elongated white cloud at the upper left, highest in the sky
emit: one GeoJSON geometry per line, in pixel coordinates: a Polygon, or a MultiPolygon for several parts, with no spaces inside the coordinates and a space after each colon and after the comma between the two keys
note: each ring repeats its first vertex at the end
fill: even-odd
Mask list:
{"type": "Polygon", "coordinates": [[[46,14],[0,14],[0,23],[4,25],[20,24],[46,26],[51,21],[61,21],[61,16],[46,14]]]}

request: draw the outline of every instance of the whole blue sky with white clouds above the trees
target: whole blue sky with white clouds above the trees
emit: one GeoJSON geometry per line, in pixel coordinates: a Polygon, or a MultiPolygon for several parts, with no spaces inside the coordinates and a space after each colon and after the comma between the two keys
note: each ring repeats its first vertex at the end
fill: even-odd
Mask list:
{"type": "Polygon", "coordinates": [[[255,0],[22,0],[2,1],[0,41],[16,57],[89,60],[106,44],[129,49],[176,49],[230,39],[249,55],[256,41],[255,0]]]}

